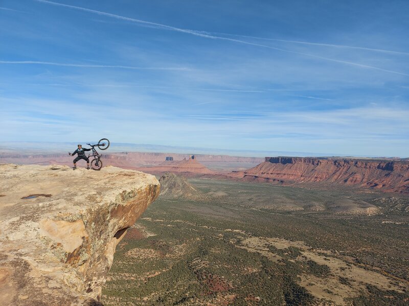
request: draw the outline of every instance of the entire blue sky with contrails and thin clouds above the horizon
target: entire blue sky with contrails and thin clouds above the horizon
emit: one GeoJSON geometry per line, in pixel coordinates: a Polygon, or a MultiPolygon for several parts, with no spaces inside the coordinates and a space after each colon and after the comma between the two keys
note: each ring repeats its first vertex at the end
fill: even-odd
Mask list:
{"type": "Polygon", "coordinates": [[[407,1],[0,0],[0,139],[409,156],[407,1]]]}

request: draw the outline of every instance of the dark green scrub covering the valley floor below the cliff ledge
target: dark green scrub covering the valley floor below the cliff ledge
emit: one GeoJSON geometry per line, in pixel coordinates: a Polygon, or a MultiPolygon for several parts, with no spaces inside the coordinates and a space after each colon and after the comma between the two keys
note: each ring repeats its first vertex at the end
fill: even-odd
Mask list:
{"type": "MultiPolygon", "coordinates": [[[[231,181],[191,183],[202,192],[222,190],[229,196],[158,199],[118,245],[103,289],[104,304],[329,305],[336,297],[353,305],[403,305],[409,300],[403,282],[409,266],[407,226],[382,223],[384,216],[277,210],[278,202],[293,205],[302,199],[350,196],[370,202],[368,194],[231,181]],[[249,237],[257,237],[259,244],[247,242],[249,237]],[[334,261],[343,265],[332,267],[334,261]],[[396,284],[391,281],[391,288],[383,289],[360,284],[347,276],[354,269],[390,274],[396,284]],[[349,295],[342,296],[340,286],[349,295]]],[[[402,214],[388,218],[401,222],[406,218],[402,214]]]]}

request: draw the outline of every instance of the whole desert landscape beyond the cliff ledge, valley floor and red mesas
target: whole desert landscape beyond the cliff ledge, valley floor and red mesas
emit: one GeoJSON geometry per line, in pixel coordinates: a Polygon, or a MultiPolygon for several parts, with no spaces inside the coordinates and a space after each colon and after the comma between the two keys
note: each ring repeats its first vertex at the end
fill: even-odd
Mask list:
{"type": "MultiPolygon", "coordinates": [[[[140,170],[161,184],[117,246],[104,305],[409,301],[407,160],[119,152],[102,161],[100,172],[82,171],[140,170]]],[[[45,168],[71,162],[0,156],[45,168]]]]}

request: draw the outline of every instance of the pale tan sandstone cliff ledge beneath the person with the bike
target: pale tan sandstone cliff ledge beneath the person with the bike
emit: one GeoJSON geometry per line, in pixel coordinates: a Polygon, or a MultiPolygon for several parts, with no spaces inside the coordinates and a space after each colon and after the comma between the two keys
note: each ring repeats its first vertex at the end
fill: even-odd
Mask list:
{"type": "Polygon", "coordinates": [[[115,248],[158,196],[156,178],[0,164],[0,181],[0,304],[102,305],[115,248]]]}

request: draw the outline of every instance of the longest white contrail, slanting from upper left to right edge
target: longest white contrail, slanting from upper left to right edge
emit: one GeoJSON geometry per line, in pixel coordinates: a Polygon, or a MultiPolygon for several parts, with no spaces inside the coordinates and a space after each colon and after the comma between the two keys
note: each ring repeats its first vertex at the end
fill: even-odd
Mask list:
{"type": "Polygon", "coordinates": [[[101,12],[101,11],[86,9],[86,8],[82,8],[82,7],[77,7],[77,6],[72,6],[72,5],[67,5],[67,4],[57,3],[57,2],[51,2],[51,1],[47,1],[47,0],[34,0],[34,1],[42,2],[42,3],[48,3],[48,4],[52,4],[52,5],[57,5],[57,6],[63,6],[63,7],[67,7],[67,8],[73,8],[73,9],[77,9],[77,10],[81,10],[81,11],[85,11],[85,12],[90,12],[90,13],[94,13],[94,14],[98,14],[98,15],[109,16],[109,17],[112,17],[112,18],[118,18],[118,19],[122,19],[122,20],[132,21],[132,22],[135,22],[135,23],[149,25],[151,27],[153,26],[153,27],[156,27],[158,29],[166,29],[166,30],[170,30],[170,31],[182,32],[182,33],[187,33],[187,34],[191,34],[191,35],[195,35],[195,36],[199,36],[199,37],[210,38],[210,39],[233,41],[233,42],[237,42],[237,43],[253,45],[253,46],[259,46],[259,47],[264,47],[264,48],[268,48],[268,49],[279,50],[279,51],[286,52],[286,53],[298,54],[298,55],[313,57],[313,58],[322,59],[322,60],[331,61],[331,62],[336,62],[336,63],[348,64],[348,65],[353,65],[353,66],[362,67],[362,68],[370,68],[370,69],[375,69],[375,70],[379,70],[379,71],[383,71],[383,72],[390,72],[390,73],[405,75],[406,77],[409,77],[409,74],[406,74],[406,73],[403,73],[403,72],[383,69],[383,68],[379,68],[379,67],[375,67],[375,66],[369,66],[369,65],[363,65],[363,64],[358,64],[358,63],[354,63],[354,62],[336,60],[336,59],[317,56],[317,55],[313,55],[313,54],[296,52],[296,51],[292,51],[292,50],[272,47],[272,46],[263,45],[263,44],[259,44],[259,43],[252,43],[252,42],[233,39],[233,38],[227,38],[227,37],[220,37],[220,36],[205,34],[206,32],[198,32],[198,31],[194,31],[194,30],[180,29],[180,28],[171,27],[170,25],[166,25],[166,24],[162,24],[162,23],[150,22],[150,21],[125,17],[125,16],[120,16],[120,15],[116,15],[116,14],[110,14],[110,13],[105,13],[105,12],[101,12]]]}

